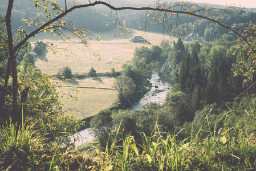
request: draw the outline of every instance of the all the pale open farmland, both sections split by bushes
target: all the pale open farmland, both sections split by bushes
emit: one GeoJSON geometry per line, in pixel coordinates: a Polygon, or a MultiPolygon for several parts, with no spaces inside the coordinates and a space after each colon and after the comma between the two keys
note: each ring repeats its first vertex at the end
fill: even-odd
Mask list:
{"type": "MultiPolygon", "coordinates": [[[[121,35],[118,30],[99,32],[97,35],[100,35],[100,41],[90,40],[88,47],[79,42],[64,43],[57,37],[47,34],[37,35],[31,40],[32,43],[37,40],[52,43],[57,53],[54,55],[49,48],[46,55],[37,56],[35,66],[51,75],[67,66],[71,68],[73,74],[87,73],[91,67],[94,67],[98,73],[110,72],[111,68],[121,71],[121,66],[133,58],[136,47],[151,47],[149,44],[129,42],[133,36],[141,35],[153,45],[159,45],[162,39],[170,40],[170,42],[174,40],[161,33],[130,31],[129,34],[121,35]],[[100,58],[95,54],[98,54],[100,58]]],[[[114,80],[113,78],[84,79],[63,84],[63,91],[70,91],[75,87],[81,91],[79,95],[76,95],[78,101],[62,99],[63,111],[74,113],[79,119],[83,119],[95,115],[100,109],[109,107],[117,94],[112,88],[114,80]],[[85,93],[82,91],[84,88],[86,88],[85,93]]]]}

